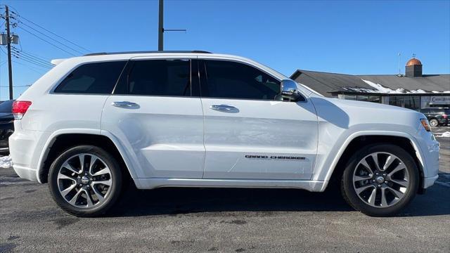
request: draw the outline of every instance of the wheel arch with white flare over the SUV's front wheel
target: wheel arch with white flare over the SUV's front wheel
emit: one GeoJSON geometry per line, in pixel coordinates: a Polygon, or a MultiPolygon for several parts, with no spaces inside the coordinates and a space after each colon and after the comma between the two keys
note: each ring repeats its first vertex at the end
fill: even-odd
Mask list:
{"type": "Polygon", "coordinates": [[[326,175],[326,183],[327,184],[337,184],[340,180],[340,176],[342,175],[345,164],[347,160],[354,154],[356,150],[362,148],[363,146],[383,143],[383,144],[393,144],[398,145],[399,147],[406,150],[406,152],[413,157],[414,162],[419,170],[420,181],[419,181],[419,193],[423,190],[423,178],[424,178],[424,160],[422,157],[422,153],[420,148],[414,138],[406,133],[400,132],[380,132],[380,133],[355,133],[352,136],[349,136],[345,141],[344,145],[340,148],[338,155],[336,155],[335,160],[333,161],[333,165],[331,166],[330,171],[326,175]]]}

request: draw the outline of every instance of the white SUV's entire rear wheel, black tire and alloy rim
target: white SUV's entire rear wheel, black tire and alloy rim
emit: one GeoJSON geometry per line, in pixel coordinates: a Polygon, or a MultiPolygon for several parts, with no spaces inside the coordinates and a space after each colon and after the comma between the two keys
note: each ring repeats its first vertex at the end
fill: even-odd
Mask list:
{"type": "Polygon", "coordinates": [[[99,216],[117,202],[122,171],[117,160],[102,148],[79,145],[65,150],[53,161],[49,189],[65,212],[80,217],[99,216]]]}

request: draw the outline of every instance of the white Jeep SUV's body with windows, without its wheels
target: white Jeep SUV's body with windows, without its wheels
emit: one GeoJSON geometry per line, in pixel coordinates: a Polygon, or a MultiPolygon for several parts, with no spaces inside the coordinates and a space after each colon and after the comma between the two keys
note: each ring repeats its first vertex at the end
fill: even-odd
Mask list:
{"type": "Polygon", "coordinates": [[[13,168],[24,179],[47,182],[53,162],[49,153],[58,153],[55,159],[72,145],[58,143],[63,148],[53,151],[51,147],[61,136],[72,140],[70,135],[107,138],[108,143],[98,146],[112,143],[120,154],[116,159],[126,165],[122,169],[141,189],[323,191],[346,150],[349,158],[362,148],[349,150],[356,142],[406,145],[401,148],[416,162],[419,191],[437,179],[439,143],[425,129],[424,115],[390,105],[324,98],[301,84],[295,91],[300,100],[274,99],[273,90],[283,89],[280,83],[288,77],[246,58],[193,51],[101,53],[58,62],[18,98],[31,101],[22,118],[15,120],[9,139],[13,168]],[[110,66],[91,67],[98,63],[110,66]],[[167,67],[160,68],[164,64],[167,67]],[[77,77],[82,67],[88,74],[77,77]],[[111,74],[113,91],[89,90],[95,83],[89,71],[94,70],[111,74]],[[143,77],[146,73],[161,77],[149,81],[143,77]],[[237,80],[240,76],[242,81],[237,80]],[[180,89],[177,85],[186,80],[180,89]],[[58,88],[62,82],[68,88],[58,88]],[[154,82],[169,87],[147,87],[154,82]]]}

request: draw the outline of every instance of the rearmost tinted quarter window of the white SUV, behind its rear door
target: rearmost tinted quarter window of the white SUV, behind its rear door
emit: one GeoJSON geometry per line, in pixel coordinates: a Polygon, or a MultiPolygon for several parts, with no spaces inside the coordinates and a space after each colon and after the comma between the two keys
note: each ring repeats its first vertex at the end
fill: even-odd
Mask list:
{"type": "Polygon", "coordinates": [[[110,94],[122,72],[125,61],[87,63],[65,77],[55,93],[110,94]]]}

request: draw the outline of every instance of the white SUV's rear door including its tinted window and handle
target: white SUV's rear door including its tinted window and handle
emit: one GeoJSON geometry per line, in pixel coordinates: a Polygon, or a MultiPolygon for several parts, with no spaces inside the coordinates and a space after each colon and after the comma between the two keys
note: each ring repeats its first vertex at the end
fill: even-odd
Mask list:
{"type": "Polygon", "coordinates": [[[203,176],[203,111],[191,58],[134,58],[105,103],[102,130],[124,145],[138,177],[203,176]]]}

